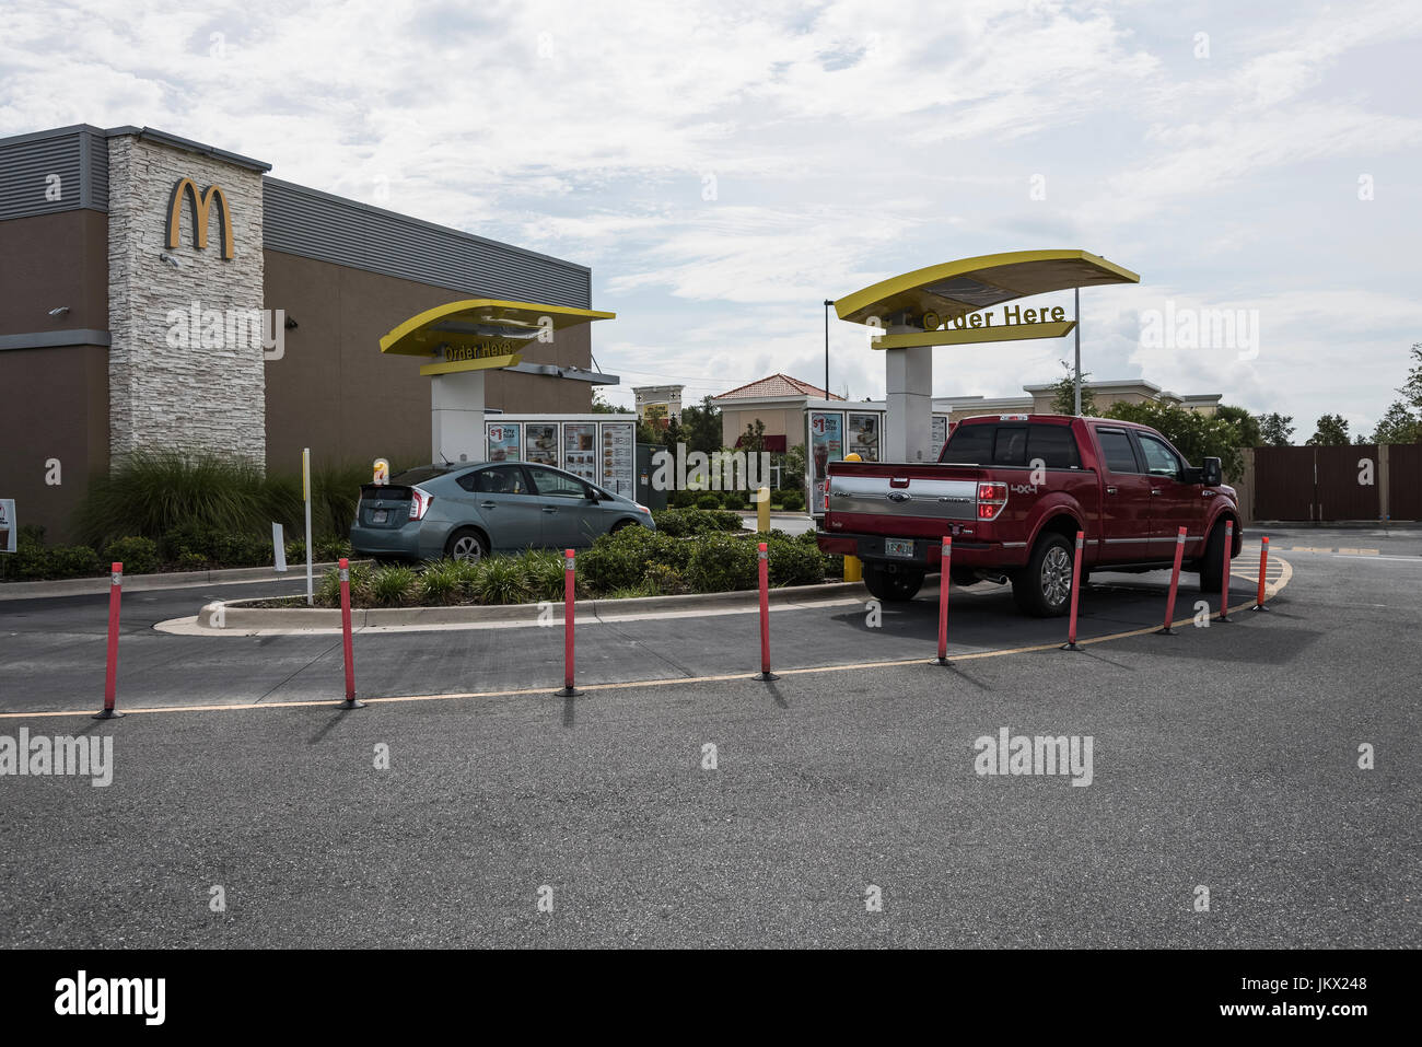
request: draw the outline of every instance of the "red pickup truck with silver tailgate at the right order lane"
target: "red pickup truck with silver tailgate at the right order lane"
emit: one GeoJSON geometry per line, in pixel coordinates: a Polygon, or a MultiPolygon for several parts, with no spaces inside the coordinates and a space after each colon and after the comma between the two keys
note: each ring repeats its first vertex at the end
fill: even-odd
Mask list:
{"type": "Polygon", "coordinates": [[[882,600],[909,600],[941,568],[953,536],[951,580],[1011,582],[1028,615],[1071,603],[1076,532],[1091,570],[1156,570],[1185,562],[1202,592],[1219,592],[1224,524],[1229,556],[1243,543],[1239,495],[1220,459],[1192,467],[1152,428],[1109,418],[1003,414],[964,418],[934,465],[830,462],[819,548],[857,556],[882,600]]]}

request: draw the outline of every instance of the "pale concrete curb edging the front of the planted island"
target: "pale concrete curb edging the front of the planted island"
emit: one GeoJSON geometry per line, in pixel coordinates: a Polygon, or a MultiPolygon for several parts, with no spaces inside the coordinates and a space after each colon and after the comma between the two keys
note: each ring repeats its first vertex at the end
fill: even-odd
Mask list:
{"type": "MultiPolygon", "coordinates": [[[[796,585],[771,589],[772,605],[803,603],[836,596],[863,593],[863,582],[828,582],[825,585],[796,585]]],[[[340,629],[340,607],[250,607],[262,599],[213,600],[198,612],[196,625],[213,632],[340,629]],[[220,609],[220,612],[219,612],[220,609]],[[222,625],[216,625],[218,617],[222,625]]],[[[637,596],[626,600],[580,600],[579,619],[617,617],[629,613],[668,613],[688,610],[739,610],[759,606],[759,590],[741,589],[729,593],[690,593],[685,596],[637,596]]],[[[549,602],[555,620],[562,620],[563,602],[549,602]]],[[[528,622],[543,613],[538,603],[471,605],[461,607],[353,607],[351,629],[374,626],[451,626],[488,622],[528,622]]]]}

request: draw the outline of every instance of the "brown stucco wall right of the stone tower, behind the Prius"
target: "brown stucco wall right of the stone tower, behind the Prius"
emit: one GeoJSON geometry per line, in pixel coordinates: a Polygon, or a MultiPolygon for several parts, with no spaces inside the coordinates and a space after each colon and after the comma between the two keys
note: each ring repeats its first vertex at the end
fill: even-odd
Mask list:
{"type": "MultiPolygon", "coordinates": [[[[429,378],[421,360],[383,356],[380,339],[415,313],[478,297],[363,269],[266,252],[266,307],[284,309],[280,360],[266,363],[267,468],[313,462],[429,461],[429,378]]],[[[614,321],[616,323],[616,321],[614,321]]],[[[533,343],[526,363],[592,367],[587,327],[533,343]]],[[[532,374],[489,371],[485,407],[520,414],[586,413],[592,386],[532,374]]]]}

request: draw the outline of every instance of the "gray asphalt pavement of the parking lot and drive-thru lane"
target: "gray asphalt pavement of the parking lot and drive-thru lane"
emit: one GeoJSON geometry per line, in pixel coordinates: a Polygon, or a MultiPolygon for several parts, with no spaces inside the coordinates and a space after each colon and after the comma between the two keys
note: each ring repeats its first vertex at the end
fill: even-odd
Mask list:
{"type": "Polygon", "coordinates": [[[0,943],[1416,947],[1422,532],[1273,546],[1273,613],[1140,633],[1166,576],[1101,576],[1079,653],[954,590],[951,669],[924,597],[775,612],[771,684],[754,615],[580,627],[573,700],[560,629],[361,634],[411,700],[351,713],[282,704],[340,697],[338,637],[152,629],[294,583],[127,596],[119,706],[192,711],[109,723],[18,716],[98,707],[104,597],[0,603],[0,734],[114,737],[108,787],[0,780],[0,943]],[[978,774],[1001,728],[1091,784],[978,774]]]}

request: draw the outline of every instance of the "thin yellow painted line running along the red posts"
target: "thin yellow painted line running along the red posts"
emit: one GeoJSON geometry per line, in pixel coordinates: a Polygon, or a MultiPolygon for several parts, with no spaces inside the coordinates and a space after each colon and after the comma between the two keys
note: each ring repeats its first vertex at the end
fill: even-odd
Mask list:
{"type": "MultiPolygon", "coordinates": [[[[1284,565],[1284,576],[1280,579],[1278,585],[1267,586],[1266,596],[1276,596],[1285,585],[1288,585],[1294,572],[1288,566],[1288,562],[1280,558],[1280,563],[1284,565]]],[[[1243,578],[1243,575],[1236,573],[1236,578],[1243,578]]],[[[1233,615],[1237,610],[1246,610],[1254,606],[1254,600],[1249,599],[1243,603],[1237,603],[1230,607],[1233,615]]],[[[1212,612],[1212,617],[1219,617],[1217,613],[1212,612]]],[[[1176,619],[1170,623],[1170,627],[1187,626],[1194,623],[1194,615],[1187,617],[1176,619]]],[[[1145,629],[1132,629],[1125,633],[1111,633],[1108,636],[1092,636],[1088,639],[1078,639],[1076,644],[1085,647],[1095,643],[1108,643],[1111,640],[1125,640],[1132,636],[1148,636],[1160,629],[1160,626],[1148,626],[1145,629]]],[[[971,652],[968,654],[953,654],[950,661],[975,661],[978,659],[993,659],[1003,654],[1030,654],[1034,652],[1044,650],[1059,650],[1064,640],[1052,640],[1051,643],[1035,643],[1025,647],[1004,647],[1001,650],[980,650],[971,652]]],[[[774,670],[776,676],[815,676],[825,673],[850,673],[862,669],[893,669],[896,666],[933,666],[937,664],[934,659],[930,657],[913,657],[913,659],[887,659],[882,661],[856,661],[853,664],[842,666],[813,666],[811,669],[776,669],[774,670]]],[[[722,673],[720,676],[674,676],[660,680],[630,680],[626,683],[587,683],[579,684],[583,691],[627,691],[637,690],[640,687],[674,687],[680,684],[693,683],[727,683],[731,680],[754,680],[752,673],[722,673]]],[[[505,691],[454,691],[448,694],[394,694],[383,698],[361,698],[368,706],[384,706],[401,701],[449,701],[454,698],[519,698],[528,696],[550,697],[556,690],[556,684],[550,683],[545,687],[522,687],[519,690],[505,690],[505,691]]],[[[152,713],[239,713],[253,708],[336,708],[340,703],[338,698],[314,698],[304,701],[247,701],[236,706],[159,706],[154,708],[122,708],[119,711],[127,716],[148,716],[152,713]]],[[[64,710],[55,713],[0,713],[0,720],[41,720],[54,717],[82,717],[92,716],[97,710],[94,708],[80,708],[80,710],[64,710]]]]}

